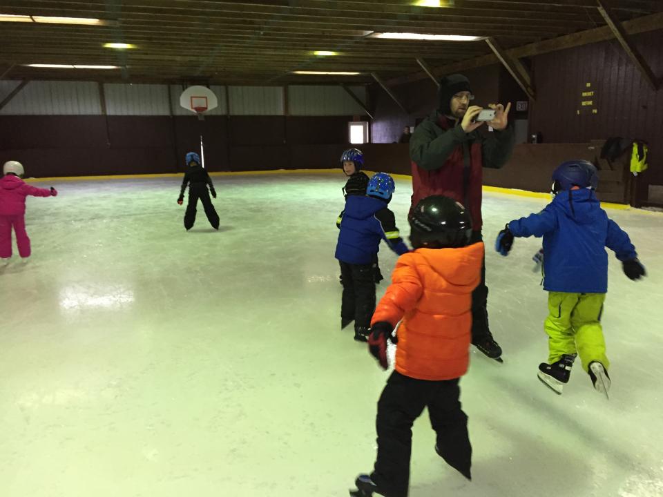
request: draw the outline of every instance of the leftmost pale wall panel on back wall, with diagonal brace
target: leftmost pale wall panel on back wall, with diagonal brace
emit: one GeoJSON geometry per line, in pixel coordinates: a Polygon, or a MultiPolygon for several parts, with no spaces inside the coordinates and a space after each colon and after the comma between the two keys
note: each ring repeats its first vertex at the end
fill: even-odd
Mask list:
{"type": "MultiPolygon", "coordinates": [[[[0,81],[0,99],[18,81],[0,81]]],[[[99,88],[93,81],[30,81],[0,111],[3,115],[100,115],[99,88]]]]}

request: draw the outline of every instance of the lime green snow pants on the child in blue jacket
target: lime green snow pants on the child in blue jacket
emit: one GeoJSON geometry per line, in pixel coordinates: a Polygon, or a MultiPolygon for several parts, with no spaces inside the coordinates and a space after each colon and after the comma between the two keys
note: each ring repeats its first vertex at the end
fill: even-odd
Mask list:
{"type": "Polygon", "coordinates": [[[598,361],[606,370],[606,342],[601,327],[605,293],[550,292],[544,329],[548,333],[548,364],[563,354],[577,353],[587,371],[590,362],[598,361]]]}

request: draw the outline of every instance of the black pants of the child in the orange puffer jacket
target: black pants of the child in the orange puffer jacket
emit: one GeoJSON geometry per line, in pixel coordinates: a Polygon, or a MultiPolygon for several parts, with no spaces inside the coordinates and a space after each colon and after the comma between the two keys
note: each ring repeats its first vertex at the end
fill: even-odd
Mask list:
{"type": "MultiPolygon", "coordinates": [[[[459,378],[416,380],[394,371],[378,402],[378,457],[372,480],[386,497],[406,497],[410,484],[412,423],[428,407],[439,454],[470,478],[472,445],[468,417],[459,402],[459,378]]],[[[431,450],[433,447],[431,447],[431,450]]]]}

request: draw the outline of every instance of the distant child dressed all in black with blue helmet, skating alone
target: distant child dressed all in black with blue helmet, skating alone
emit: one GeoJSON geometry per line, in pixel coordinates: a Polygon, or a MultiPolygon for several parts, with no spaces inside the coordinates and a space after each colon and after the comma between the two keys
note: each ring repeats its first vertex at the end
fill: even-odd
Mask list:
{"type": "Polygon", "coordinates": [[[186,190],[186,185],[189,185],[189,203],[186,204],[186,213],[184,214],[184,228],[186,231],[189,231],[193,228],[193,223],[195,223],[195,212],[196,205],[198,204],[198,199],[202,202],[202,206],[205,209],[205,215],[209,224],[216,230],[219,228],[219,215],[216,213],[212,201],[209,199],[209,194],[212,194],[212,197],[216,198],[216,191],[214,190],[214,185],[212,184],[212,179],[207,174],[205,168],[202,167],[200,162],[200,155],[195,152],[189,152],[186,154],[186,165],[189,166],[189,170],[184,173],[184,181],[182,181],[182,190],[180,191],[180,197],[177,199],[177,204],[182,205],[184,202],[184,191],[186,190]],[[207,191],[207,186],[209,185],[209,192],[207,191]]]}

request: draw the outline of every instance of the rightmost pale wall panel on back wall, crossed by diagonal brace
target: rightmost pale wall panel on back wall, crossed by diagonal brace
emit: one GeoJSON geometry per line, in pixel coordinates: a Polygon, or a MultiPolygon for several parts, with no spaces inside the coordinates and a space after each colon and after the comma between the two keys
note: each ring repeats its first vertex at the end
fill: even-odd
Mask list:
{"type": "MultiPolygon", "coordinates": [[[[366,87],[350,86],[366,103],[366,87]]],[[[288,86],[290,115],[357,115],[365,110],[340,86],[288,86]]]]}

